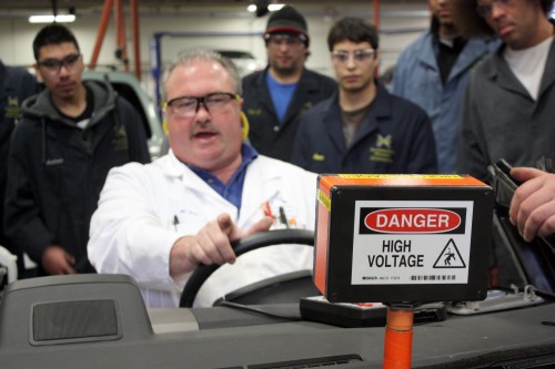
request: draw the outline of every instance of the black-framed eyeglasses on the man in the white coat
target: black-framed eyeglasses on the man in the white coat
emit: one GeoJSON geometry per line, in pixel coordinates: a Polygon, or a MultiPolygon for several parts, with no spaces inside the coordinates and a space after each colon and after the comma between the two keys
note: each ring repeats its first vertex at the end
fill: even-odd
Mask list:
{"type": "Polygon", "coordinates": [[[192,117],[199,112],[202,104],[209,113],[221,113],[230,103],[241,99],[239,94],[229,92],[214,92],[205,96],[180,96],[170,100],[164,106],[170,107],[174,114],[181,117],[192,117]]]}

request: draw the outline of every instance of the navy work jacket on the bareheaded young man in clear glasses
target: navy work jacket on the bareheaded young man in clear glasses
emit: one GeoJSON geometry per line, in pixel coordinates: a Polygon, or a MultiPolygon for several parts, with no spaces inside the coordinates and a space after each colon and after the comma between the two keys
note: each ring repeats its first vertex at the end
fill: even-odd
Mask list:
{"type": "Polygon", "coordinates": [[[309,110],[299,126],[292,162],[315,173],[437,172],[428,116],[381,84],[369,116],[349,147],[339,93],[309,110]]]}

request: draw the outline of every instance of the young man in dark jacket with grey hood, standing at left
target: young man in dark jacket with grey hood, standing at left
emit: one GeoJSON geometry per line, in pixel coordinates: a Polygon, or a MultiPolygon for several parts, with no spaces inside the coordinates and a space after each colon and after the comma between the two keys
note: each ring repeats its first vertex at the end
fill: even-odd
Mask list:
{"type": "Polygon", "coordinates": [[[26,100],[13,132],[4,230],[39,275],[94,271],[89,223],[110,168],[150,161],[141,119],[104,82],[82,82],[72,32],[53,23],[33,41],[46,90],[26,100]]]}

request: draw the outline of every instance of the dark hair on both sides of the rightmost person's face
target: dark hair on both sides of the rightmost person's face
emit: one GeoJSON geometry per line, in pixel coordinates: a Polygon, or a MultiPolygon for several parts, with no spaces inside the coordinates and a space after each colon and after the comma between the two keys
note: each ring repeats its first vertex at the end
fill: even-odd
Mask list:
{"type": "MultiPolygon", "coordinates": [[[[532,1],[529,1],[532,3],[532,1]]],[[[539,6],[545,16],[549,18],[553,0],[539,0],[539,6]]],[[[453,19],[461,34],[465,38],[476,35],[495,35],[495,31],[476,11],[477,0],[454,0],[453,19]]]]}

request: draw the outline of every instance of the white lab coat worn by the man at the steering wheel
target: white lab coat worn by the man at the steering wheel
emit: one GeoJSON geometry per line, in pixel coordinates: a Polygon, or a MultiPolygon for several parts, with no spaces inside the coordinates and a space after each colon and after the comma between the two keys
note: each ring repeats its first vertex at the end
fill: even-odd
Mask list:
{"type": "MultiPolygon", "coordinates": [[[[316,175],[259,155],[248,167],[241,212],[170,153],[151,164],[129,163],[110,171],[91,221],[89,259],[99,273],[127,274],[141,288],[147,307],[176,307],[189,277],[173,280],[170,249],[221,213],[242,229],[283,207],[291,224],[314,229],[316,175]]],[[[275,222],[279,227],[279,221],[275,222]]],[[[216,270],[194,306],[212,303],[240,287],[280,274],[312,269],[311,246],[265,247],[216,270]]]]}

